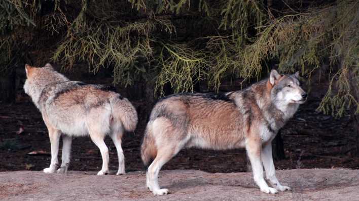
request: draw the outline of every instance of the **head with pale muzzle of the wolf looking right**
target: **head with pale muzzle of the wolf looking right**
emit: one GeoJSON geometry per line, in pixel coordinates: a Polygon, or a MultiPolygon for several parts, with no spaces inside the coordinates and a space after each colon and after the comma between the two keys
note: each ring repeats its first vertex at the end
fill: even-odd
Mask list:
{"type": "Polygon", "coordinates": [[[278,108],[288,105],[303,104],[308,94],[302,89],[298,80],[299,72],[292,75],[280,75],[272,70],[269,82],[272,85],[271,99],[278,108]]]}

